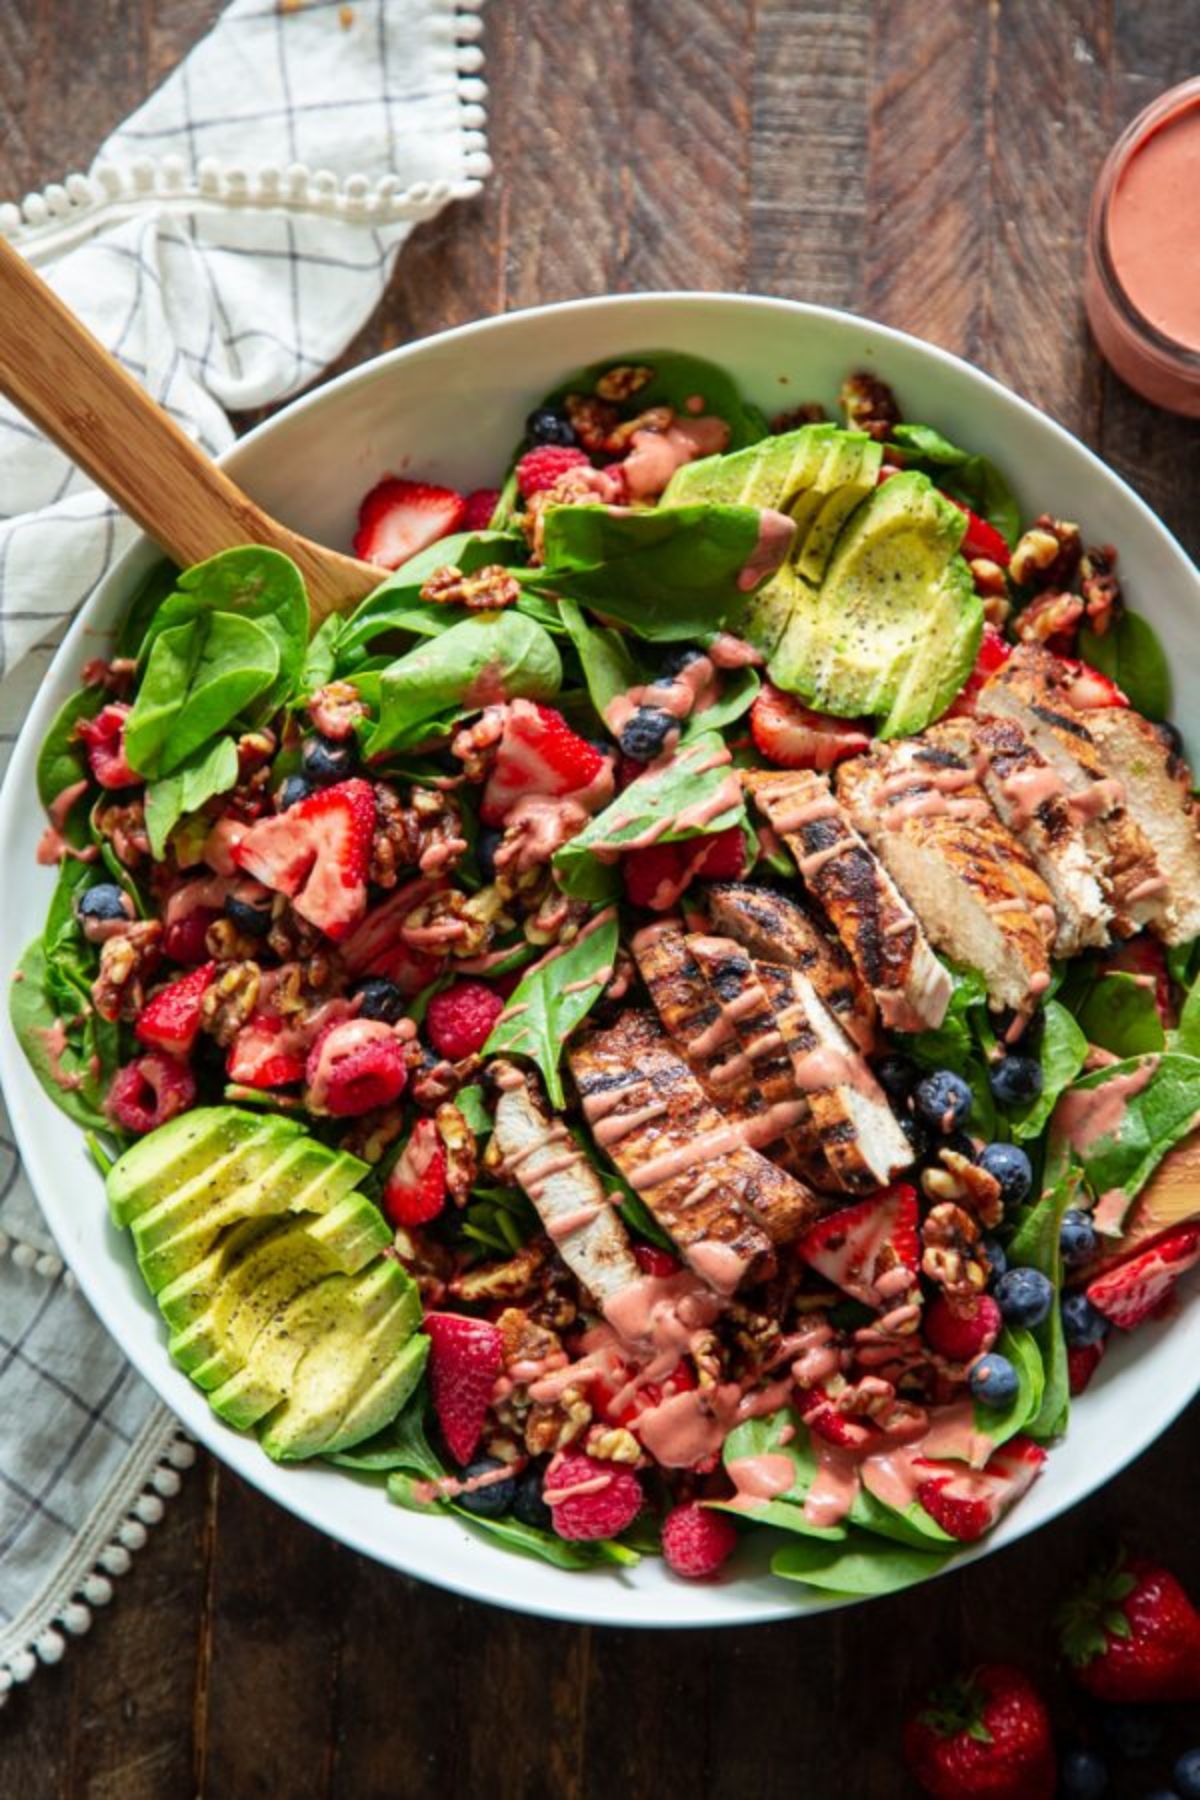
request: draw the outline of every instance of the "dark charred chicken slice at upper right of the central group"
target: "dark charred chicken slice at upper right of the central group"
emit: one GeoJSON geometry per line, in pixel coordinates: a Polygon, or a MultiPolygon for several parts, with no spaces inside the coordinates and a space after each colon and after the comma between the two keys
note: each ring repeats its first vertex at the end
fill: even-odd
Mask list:
{"type": "Polygon", "coordinates": [[[876,1008],[840,943],[826,938],[802,905],[774,887],[748,882],[711,882],[702,889],[712,929],[736,938],[750,956],[786,963],[808,976],[844,1031],[867,1055],[876,1044],[876,1008]]]}

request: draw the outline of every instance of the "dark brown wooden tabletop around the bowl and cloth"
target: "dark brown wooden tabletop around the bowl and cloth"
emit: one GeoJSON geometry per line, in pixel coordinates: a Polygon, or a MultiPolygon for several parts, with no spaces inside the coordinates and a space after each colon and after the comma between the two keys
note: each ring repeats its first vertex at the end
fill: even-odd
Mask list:
{"type": "MultiPolygon", "coordinates": [[[[216,13],[0,0],[0,196],[86,167],[216,13]]],[[[606,290],[824,301],[990,369],[1195,553],[1200,427],[1105,373],[1079,268],[1105,148],[1196,74],[1198,45],[1200,0],[493,0],[495,178],[414,236],[345,362],[606,290]]],[[[417,1586],[201,1458],[92,1634],[0,1715],[0,1793],[892,1800],[905,1706],[959,1661],[1024,1660],[1069,1728],[1049,1613],[1088,1553],[1124,1532],[1200,1593],[1198,1469],[1193,1408],[1103,1494],[963,1575],[811,1624],[669,1636],[417,1586]]],[[[1164,1775],[1128,1769],[1114,1795],[1164,1775]]]]}

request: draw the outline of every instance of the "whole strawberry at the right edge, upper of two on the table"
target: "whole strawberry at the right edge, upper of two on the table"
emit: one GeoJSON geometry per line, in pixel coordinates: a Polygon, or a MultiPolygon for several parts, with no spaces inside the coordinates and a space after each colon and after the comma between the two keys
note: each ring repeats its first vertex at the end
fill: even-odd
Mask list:
{"type": "Polygon", "coordinates": [[[1200,1613],[1169,1570],[1117,1557],[1060,1607],[1058,1627],[1097,1699],[1200,1701],[1200,1613]]]}

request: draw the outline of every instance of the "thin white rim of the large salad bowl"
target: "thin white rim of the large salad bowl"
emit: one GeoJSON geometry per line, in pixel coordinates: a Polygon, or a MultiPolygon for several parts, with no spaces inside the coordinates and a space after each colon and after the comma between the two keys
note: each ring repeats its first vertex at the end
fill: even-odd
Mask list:
{"type": "MultiPolygon", "coordinates": [[[[1049,434],[1049,437],[1054,441],[1058,448],[1065,448],[1072,457],[1081,455],[1085,463],[1090,464],[1090,470],[1101,477],[1101,481],[1115,484],[1121,490],[1123,502],[1132,504],[1135,511],[1142,515],[1142,520],[1144,524],[1148,524],[1151,535],[1157,536],[1159,542],[1164,545],[1164,549],[1169,551],[1171,560],[1180,565],[1180,572],[1191,576],[1191,580],[1196,583],[1196,596],[1200,599],[1200,572],[1196,572],[1195,563],[1191,562],[1187,551],[1182,547],[1178,538],[1157,517],[1157,513],[1148,506],[1148,502],[1124,481],[1124,477],[1121,477],[1115,470],[1112,470],[1088,445],[1078,439],[1058,419],[1051,418],[1040,407],[1034,407],[1033,401],[1024,400],[1020,394],[1015,394],[1009,387],[1006,387],[995,376],[988,374],[984,369],[979,369],[975,364],[968,362],[964,356],[959,356],[954,351],[948,351],[937,344],[930,344],[925,338],[916,337],[914,333],[901,331],[894,326],[880,324],[873,319],[865,319],[844,308],[822,306],[810,301],[790,301],[790,299],[781,299],[777,295],[739,293],[729,290],[716,290],[716,292],[685,290],[685,288],[651,290],[651,292],[631,292],[615,295],[590,295],[574,301],[558,301],[543,306],[516,308],[507,313],[493,313],[484,319],[468,320],[459,326],[452,326],[444,331],[432,331],[425,337],[412,338],[410,342],[383,351],[381,355],[372,356],[367,362],[356,364],[353,369],[347,369],[338,376],[318,382],[313,389],[299,394],[295,400],[279,407],[270,418],[263,419],[250,432],[246,432],[243,437],[232,443],[225,452],[221,452],[221,455],[216,457],[216,461],[221,468],[227,468],[236,477],[237,466],[246,455],[246,452],[250,452],[264,437],[270,439],[272,432],[284,419],[290,421],[313,409],[320,409],[335,394],[342,396],[353,394],[356,387],[360,385],[367,387],[372,382],[376,382],[381,371],[403,365],[408,358],[419,355],[421,351],[428,351],[432,346],[453,347],[470,338],[504,333],[513,320],[529,320],[531,317],[561,317],[561,315],[587,317],[588,313],[599,313],[604,315],[604,319],[610,319],[612,315],[619,315],[622,311],[628,313],[655,311],[658,306],[664,311],[667,311],[669,308],[678,308],[680,304],[687,304],[689,308],[696,310],[720,310],[734,304],[739,308],[747,308],[750,311],[763,311],[763,310],[774,311],[786,319],[793,319],[797,322],[802,322],[804,319],[813,319],[813,320],[833,320],[840,326],[853,326],[869,335],[871,355],[876,355],[880,349],[885,349],[887,346],[898,346],[903,347],[905,351],[914,351],[919,358],[927,358],[936,365],[941,364],[943,367],[952,371],[957,380],[966,378],[972,385],[982,387],[988,401],[993,407],[999,407],[1002,412],[1007,412],[1016,419],[1031,421],[1036,430],[1049,434]]],[[[61,679],[65,666],[68,664],[70,668],[76,666],[79,655],[79,644],[81,639],[90,630],[92,616],[103,608],[106,598],[117,585],[128,583],[130,580],[128,571],[131,569],[131,565],[137,567],[139,558],[146,560],[151,549],[153,544],[148,538],[148,535],[139,533],[137,538],[133,538],[133,542],[128,545],[128,549],[101,578],[101,581],[97,581],[95,589],[92,590],[88,599],[83,603],[83,607],[72,619],[61,644],[58,646],[54,657],[50,659],[38,686],[38,693],[43,693],[45,689],[56,686],[61,679]]],[[[9,769],[5,770],[4,785],[0,785],[0,826],[2,821],[7,817],[7,814],[18,805],[16,776],[20,772],[20,763],[27,760],[27,740],[32,738],[31,727],[34,724],[34,718],[36,718],[36,706],[31,706],[31,713],[27,715],[25,724],[18,733],[18,740],[13,747],[13,756],[9,769]]],[[[16,947],[13,952],[13,963],[14,961],[16,961],[16,947]]],[[[5,968],[7,968],[7,959],[5,959],[5,968]]],[[[16,1096],[20,1071],[23,1071],[23,1057],[13,1035],[5,1006],[4,1022],[0,1024],[0,1089],[4,1089],[5,1096],[9,1093],[16,1096]]],[[[11,1107],[9,1112],[22,1163],[29,1174],[34,1197],[38,1199],[38,1204],[43,1210],[43,1213],[47,1213],[47,1222],[49,1222],[49,1219],[54,1213],[54,1202],[50,1202],[50,1208],[47,1208],[43,1202],[43,1192],[52,1190],[50,1172],[43,1165],[41,1148],[34,1138],[32,1123],[27,1118],[23,1118],[20,1109],[16,1107],[11,1107]]],[[[167,1402],[162,1397],[162,1386],[160,1386],[160,1375],[164,1372],[162,1343],[157,1343],[155,1350],[153,1352],[148,1350],[146,1354],[142,1354],[140,1345],[135,1345],[131,1348],[126,1346],[121,1332],[121,1321],[126,1307],[124,1294],[110,1296],[110,1291],[104,1287],[104,1283],[94,1280],[90,1265],[79,1265],[72,1262],[68,1249],[63,1249],[63,1256],[72,1267],[79,1289],[83,1291],[90,1307],[95,1310],[106,1332],[122,1348],[122,1354],[130,1359],[139,1375],[148,1382],[148,1386],[158,1397],[158,1402],[167,1406],[169,1411],[180,1417],[175,1402],[167,1402]]],[[[1200,1350],[1200,1305],[1191,1305],[1187,1312],[1191,1316],[1191,1336],[1196,1339],[1196,1348],[1200,1350]]],[[[1186,1319],[1182,1318],[1177,1319],[1175,1327],[1182,1330],[1186,1327],[1186,1319]]],[[[1006,1516],[1006,1519],[997,1526],[995,1532],[988,1534],[988,1537],[984,1537],[979,1544],[955,1555],[954,1562],[945,1566],[939,1571],[939,1575],[952,1573],[954,1570],[964,1568],[968,1562],[981,1561],[982,1557],[1000,1553],[1002,1550],[1009,1548],[1009,1544],[1029,1535],[1040,1526],[1049,1525],[1063,1512],[1079,1505],[1090,1494],[1099,1492],[1108,1481],[1112,1481],[1117,1474],[1121,1474],[1121,1471],[1130,1462],[1133,1462],[1135,1456],[1146,1451],[1155,1442],[1157,1436],[1160,1436],[1166,1429],[1169,1429],[1169,1426],[1187,1408],[1191,1399],[1195,1399],[1195,1391],[1200,1390],[1200,1355],[1195,1357],[1195,1368],[1196,1368],[1196,1379],[1193,1393],[1189,1395],[1180,1390],[1178,1400],[1171,1402],[1166,1417],[1162,1415],[1155,1417],[1155,1422],[1148,1433],[1144,1435],[1135,1433],[1132,1438],[1123,1440],[1119,1449],[1115,1449],[1114,1460],[1106,1465],[1105,1474],[1099,1480],[1085,1481],[1078,1492],[1063,1496],[1052,1505],[1051,1512],[1047,1512],[1043,1517],[1031,1519],[1029,1523],[1024,1523],[1022,1508],[1016,1507],[1013,1512],[1006,1516]]],[[[216,1418],[216,1415],[207,1406],[207,1400],[200,1393],[200,1390],[189,1388],[187,1393],[191,1395],[191,1400],[194,1404],[191,1406],[191,1411],[182,1417],[182,1424],[185,1426],[185,1429],[193,1436],[196,1436],[205,1445],[205,1449],[209,1449],[214,1456],[218,1456],[219,1462],[227,1463],[237,1476],[250,1481],[250,1485],[255,1487],[268,1499],[272,1499],[277,1505],[282,1505],[295,1517],[300,1517],[306,1525],[313,1526],[315,1530],[320,1530],[324,1535],[335,1537],[335,1541],[347,1544],[347,1548],[356,1550],[362,1555],[367,1555],[387,1568],[403,1571],[412,1579],[428,1580],[430,1584],[443,1588],[444,1591],[462,1595],[464,1598],[471,1598],[491,1606],[502,1606],[509,1611],[527,1613],[533,1616],[563,1620],[576,1625],[597,1624],[597,1625],[613,1625],[617,1629],[628,1629],[628,1627],[698,1629],[711,1625],[772,1624],[784,1618],[813,1616],[819,1613],[840,1609],[844,1606],[860,1606],[864,1604],[864,1600],[874,1598],[864,1595],[835,1597],[835,1595],[815,1593],[811,1589],[797,1591],[792,1584],[772,1577],[770,1598],[765,1598],[761,1591],[756,1591],[754,1598],[750,1600],[745,1611],[734,1607],[718,1613],[712,1609],[705,1611],[703,1606],[696,1606],[689,1616],[675,1616],[675,1613],[662,1611],[651,1595],[639,1593],[635,1602],[630,1604],[630,1600],[633,1598],[633,1589],[619,1586],[619,1571],[615,1570],[613,1571],[594,1570],[590,1571],[592,1575],[590,1580],[574,1579],[572,1589],[569,1591],[572,1593],[578,1591],[579,1595],[578,1606],[569,1606],[567,1598],[563,1598],[563,1602],[558,1604],[540,1595],[527,1597],[520,1591],[520,1584],[516,1586],[515,1593],[504,1597],[491,1591],[482,1593],[479,1586],[473,1586],[468,1577],[459,1577],[453,1570],[443,1571],[437,1568],[410,1566],[410,1562],[405,1559],[403,1544],[396,1548],[392,1544],[372,1543],[371,1534],[356,1530],[351,1521],[342,1521],[336,1528],[331,1526],[331,1523],[322,1516],[322,1508],[315,1503],[309,1505],[304,1499],[304,1496],[299,1492],[299,1485],[293,1492],[288,1492],[286,1480],[284,1481],[279,1480],[281,1472],[286,1474],[286,1465],[272,1463],[270,1458],[266,1458],[264,1453],[261,1451],[257,1440],[246,1436],[245,1433],[232,1431],[219,1418],[216,1418]],[[610,1604],[601,1607],[597,1606],[601,1591],[599,1580],[603,1579],[604,1573],[615,1579],[604,1580],[603,1593],[610,1597],[610,1604]],[[779,1598],[774,1597],[775,1589],[779,1589],[779,1598]],[[612,1604],[619,1595],[630,1597],[630,1600],[622,1602],[624,1611],[621,1609],[621,1606],[612,1604]]],[[[333,1476],[335,1471],[329,1471],[329,1474],[333,1476]]],[[[347,1471],[336,1471],[336,1474],[345,1476],[347,1471]]],[[[498,1546],[488,1544],[486,1548],[493,1552],[497,1557],[504,1553],[498,1546]]],[[[567,1575],[569,1571],[556,1571],[556,1573],[567,1575]]],[[[930,1579],[939,1579],[939,1575],[934,1575],[930,1579]]],[[[736,1582],[729,1584],[729,1588],[734,1586],[738,1584],[736,1582]]],[[[743,1586],[748,1589],[750,1584],[743,1582],[743,1586]]],[[[757,1586],[761,1589],[761,1584],[757,1586]]],[[[725,1591],[729,1591],[729,1588],[725,1591]]],[[[698,1589],[689,1588],[687,1591],[694,1595],[696,1602],[702,1600],[702,1593],[698,1589]]]]}

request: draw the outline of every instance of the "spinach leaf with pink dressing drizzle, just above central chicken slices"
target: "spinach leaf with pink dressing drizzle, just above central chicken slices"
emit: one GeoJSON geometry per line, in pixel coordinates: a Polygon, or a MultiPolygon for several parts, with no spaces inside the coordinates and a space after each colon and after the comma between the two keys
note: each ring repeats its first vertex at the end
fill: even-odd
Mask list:
{"type": "Polygon", "coordinates": [[[596,862],[615,862],[639,842],[675,844],[743,824],[741,787],[714,731],[691,738],[664,769],[648,769],[554,855],[560,886],[588,898],[596,862]],[[709,817],[709,808],[718,806],[709,817]]]}

